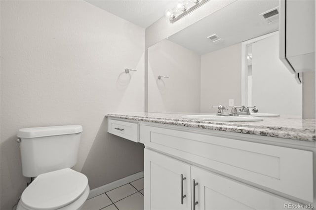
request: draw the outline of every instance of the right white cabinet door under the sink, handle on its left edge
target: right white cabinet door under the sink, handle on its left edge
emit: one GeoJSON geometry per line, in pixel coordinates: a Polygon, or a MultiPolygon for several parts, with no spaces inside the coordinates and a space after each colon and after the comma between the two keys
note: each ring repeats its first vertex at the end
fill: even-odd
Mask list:
{"type": "Polygon", "coordinates": [[[196,210],[281,210],[285,205],[297,205],[285,198],[197,167],[192,166],[191,173],[192,180],[198,183],[195,186],[195,200],[198,202],[196,210]]]}

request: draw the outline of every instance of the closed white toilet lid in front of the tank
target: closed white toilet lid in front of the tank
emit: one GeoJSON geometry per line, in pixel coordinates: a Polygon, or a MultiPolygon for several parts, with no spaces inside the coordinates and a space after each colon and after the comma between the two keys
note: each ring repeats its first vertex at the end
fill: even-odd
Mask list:
{"type": "Polygon", "coordinates": [[[24,190],[23,204],[34,210],[56,210],[77,200],[88,178],[72,169],[41,174],[24,190]]]}

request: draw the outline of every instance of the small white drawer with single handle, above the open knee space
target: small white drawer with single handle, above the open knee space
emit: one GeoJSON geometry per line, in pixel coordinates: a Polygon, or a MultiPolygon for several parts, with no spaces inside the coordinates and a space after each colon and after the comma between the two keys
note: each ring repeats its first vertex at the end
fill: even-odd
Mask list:
{"type": "Polygon", "coordinates": [[[108,119],[108,132],[124,139],[139,141],[138,123],[108,119]]]}

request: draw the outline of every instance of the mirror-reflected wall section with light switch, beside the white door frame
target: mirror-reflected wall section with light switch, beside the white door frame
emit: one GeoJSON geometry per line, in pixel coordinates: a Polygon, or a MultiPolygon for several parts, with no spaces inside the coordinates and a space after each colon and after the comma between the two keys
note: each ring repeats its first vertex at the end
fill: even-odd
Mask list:
{"type": "Polygon", "coordinates": [[[201,56],[201,112],[212,105],[241,104],[241,43],[201,56]]]}

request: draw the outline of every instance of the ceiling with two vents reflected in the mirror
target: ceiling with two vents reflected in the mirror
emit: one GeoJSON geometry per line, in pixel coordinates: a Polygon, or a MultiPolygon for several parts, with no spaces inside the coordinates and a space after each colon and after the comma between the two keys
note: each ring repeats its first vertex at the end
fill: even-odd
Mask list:
{"type": "Polygon", "coordinates": [[[259,14],[279,5],[278,0],[237,0],[217,12],[169,36],[175,42],[203,55],[278,30],[278,19],[271,24],[259,14]],[[216,34],[224,41],[215,44],[207,37],[216,34]]]}

